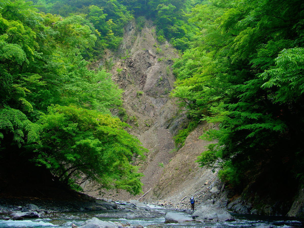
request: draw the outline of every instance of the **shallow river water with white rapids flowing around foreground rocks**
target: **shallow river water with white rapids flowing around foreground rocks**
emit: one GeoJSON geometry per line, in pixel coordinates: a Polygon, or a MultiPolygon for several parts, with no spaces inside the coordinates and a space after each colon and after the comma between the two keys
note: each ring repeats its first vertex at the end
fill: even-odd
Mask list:
{"type": "MultiPolygon", "coordinates": [[[[152,205],[149,205],[153,207],[152,205]]],[[[187,213],[176,212],[168,209],[161,209],[154,207],[155,210],[164,211],[164,212],[174,212],[180,213],[186,216],[189,216],[187,213]]],[[[23,221],[12,221],[12,220],[0,220],[0,228],[71,228],[71,224],[74,223],[77,226],[80,226],[82,222],[91,217],[97,217],[104,221],[117,221],[120,223],[130,223],[131,226],[141,225],[147,228],[224,228],[224,227],[257,227],[257,226],[270,226],[270,227],[303,227],[303,222],[292,220],[291,218],[286,218],[282,216],[254,216],[254,215],[244,215],[244,214],[232,214],[236,221],[233,222],[188,222],[184,224],[164,224],[165,215],[160,218],[134,218],[134,219],[125,219],[119,218],[117,212],[109,212],[112,217],[103,217],[101,211],[89,212],[84,215],[84,213],[74,212],[74,213],[61,213],[57,214],[56,219],[29,219],[23,221]],[[86,216],[86,217],[85,217],[86,216]]]]}

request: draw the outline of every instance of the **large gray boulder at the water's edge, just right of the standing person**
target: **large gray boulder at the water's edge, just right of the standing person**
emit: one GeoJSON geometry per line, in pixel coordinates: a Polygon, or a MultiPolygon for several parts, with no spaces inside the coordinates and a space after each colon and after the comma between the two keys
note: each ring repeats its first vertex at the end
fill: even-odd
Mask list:
{"type": "Polygon", "coordinates": [[[192,218],[205,222],[224,222],[233,221],[233,216],[226,210],[217,208],[216,206],[204,205],[192,214],[192,218]]]}

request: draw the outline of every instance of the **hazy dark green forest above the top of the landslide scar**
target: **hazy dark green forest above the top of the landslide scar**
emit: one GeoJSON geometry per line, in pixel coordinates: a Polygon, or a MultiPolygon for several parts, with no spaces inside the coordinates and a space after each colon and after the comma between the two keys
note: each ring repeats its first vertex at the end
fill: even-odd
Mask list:
{"type": "Polygon", "coordinates": [[[201,1],[189,0],[34,0],[43,12],[68,16],[79,14],[90,21],[101,36],[97,36],[94,50],[85,57],[100,55],[104,48],[117,49],[122,40],[126,22],[152,19],[157,26],[160,42],[166,39],[180,50],[186,50],[194,41],[196,26],[188,23],[188,12],[201,1]]]}

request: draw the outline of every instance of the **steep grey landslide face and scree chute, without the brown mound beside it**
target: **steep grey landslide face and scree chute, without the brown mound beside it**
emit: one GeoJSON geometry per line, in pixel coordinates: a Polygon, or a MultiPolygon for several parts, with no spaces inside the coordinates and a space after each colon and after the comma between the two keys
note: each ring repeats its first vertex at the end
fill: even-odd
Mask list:
{"type": "MultiPolygon", "coordinates": [[[[130,124],[132,129],[128,131],[149,149],[147,160],[140,168],[145,175],[141,179],[144,192],[160,179],[163,166],[174,156],[169,153],[174,149],[172,136],[187,122],[187,118],[178,113],[175,99],[169,97],[175,81],[171,70],[174,58],[178,58],[177,50],[168,42],[157,41],[152,22],[146,22],[141,31],[131,22],[126,26],[117,53],[108,51],[99,62],[100,66],[112,64],[112,79],[124,90],[125,110],[113,110],[113,114],[130,124]]],[[[119,199],[132,198],[124,191],[105,195],[109,194],[119,199]]]]}

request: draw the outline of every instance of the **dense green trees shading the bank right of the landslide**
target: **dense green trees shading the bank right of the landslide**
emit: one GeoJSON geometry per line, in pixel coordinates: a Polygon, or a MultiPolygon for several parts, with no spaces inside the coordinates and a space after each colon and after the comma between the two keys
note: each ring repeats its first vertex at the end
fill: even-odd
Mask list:
{"type": "Polygon", "coordinates": [[[301,1],[211,1],[192,9],[200,33],[174,63],[172,96],[194,119],[219,123],[198,162],[244,186],[263,170],[303,181],[301,1]]]}

